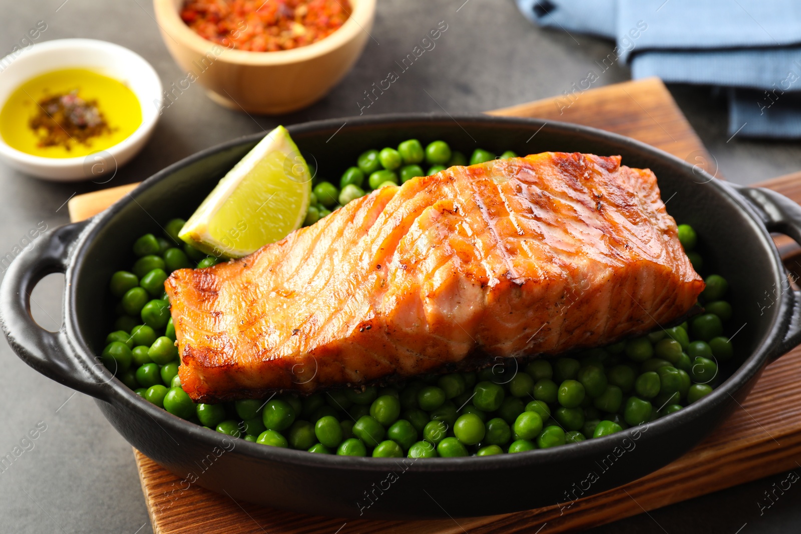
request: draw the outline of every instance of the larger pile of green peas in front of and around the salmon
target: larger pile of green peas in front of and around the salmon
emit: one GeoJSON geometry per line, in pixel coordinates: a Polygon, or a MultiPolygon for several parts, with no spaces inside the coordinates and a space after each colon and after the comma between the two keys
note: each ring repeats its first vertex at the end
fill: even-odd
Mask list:
{"type": "MultiPolygon", "coordinates": [[[[195,404],[181,388],[175,328],[163,282],[182,267],[216,259],[179,243],[183,220],[163,238],[134,243],[131,271],[111,276],[119,299],[115,331],[101,359],[152,404],[228,436],[321,454],[395,458],[491,456],[574,444],[647,424],[710,394],[718,363],[734,355],[723,335],[732,310],[722,276],[706,276],[704,312],[555,359],[511,360],[480,371],[422,375],[388,387],[292,393],[230,403],[195,404]],[[197,263],[195,263],[197,262],[197,263]]],[[[695,269],[702,257],[692,227],[678,239],[695,269]]]]}

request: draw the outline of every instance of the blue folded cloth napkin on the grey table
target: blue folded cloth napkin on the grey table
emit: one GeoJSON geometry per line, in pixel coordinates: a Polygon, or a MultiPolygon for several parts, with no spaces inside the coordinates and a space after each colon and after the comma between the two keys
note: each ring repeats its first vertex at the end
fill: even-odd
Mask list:
{"type": "Polygon", "coordinates": [[[729,133],[801,139],[799,0],[516,0],[541,26],[617,43],[632,77],[731,88],[729,133]]]}

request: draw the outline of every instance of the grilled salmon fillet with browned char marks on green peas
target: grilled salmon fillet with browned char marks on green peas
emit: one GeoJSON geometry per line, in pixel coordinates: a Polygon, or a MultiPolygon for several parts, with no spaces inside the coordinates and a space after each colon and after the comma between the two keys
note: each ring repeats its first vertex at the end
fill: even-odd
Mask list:
{"type": "Polygon", "coordinates": [[[654,173],[546,152],[382,187],[165,287],[181,386],[215,402],[611,343],[704,283],[654,173]]]}

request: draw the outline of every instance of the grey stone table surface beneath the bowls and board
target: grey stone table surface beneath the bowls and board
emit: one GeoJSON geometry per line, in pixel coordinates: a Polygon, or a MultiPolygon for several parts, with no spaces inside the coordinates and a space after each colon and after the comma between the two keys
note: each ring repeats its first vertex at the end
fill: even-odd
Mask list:
{"type": "MultiPolygon", "coordinates": [[[[44,21],[40,41],[84,37],[116,42],[151,62],[165,86],[185,77],[163,46],[148,0],[2,0],[0,6],[0,55],[44,21]]],[[[147,147],[107,186],[145,179],[195,151],[279,123],[358,114],[363,91],[383,79],[393,62],[440,21],[448,30],[436,47],[365,113],[439,111],[440,105],[452,113],[481,111],[553,96],[585,78],[613,46],[537,29],[508,0],[379,0],[364,54],[323,100],[284,117],[251,117],[216,106],[199,86],[191,86],[164,110],[147,147]]],[[[596,85],[629,75],[624,66],[615,66],[596,85]]],[[[670,89],[727,179],[753,183],[801,170],[799,143],[729,140],[723,99],[704,88],[670,89]]],[[[0,255],[40,222],[50,228],[66,223],[66,200],[97,187],[42,182],[0,166],[0,255]]],[[[34,291],[33,314],[43,327],[57,329],[61,323],[62,284],[62,276],[50,275],[34,291]]],[[[24,452],[12,464],[0,465],[0,532],[151,532],[131,447],[94,401],[26,367],[2,339],[0,456],[17,446],[24,452]],[[37,439],[25,440],[34,428],[37,439]]],[[[758,506],[766,502],[764,492],[771,484],[783,478],[744,484],[595,532],[798,531],[801,489],[787,491],[762,513],[758,506]]]]}

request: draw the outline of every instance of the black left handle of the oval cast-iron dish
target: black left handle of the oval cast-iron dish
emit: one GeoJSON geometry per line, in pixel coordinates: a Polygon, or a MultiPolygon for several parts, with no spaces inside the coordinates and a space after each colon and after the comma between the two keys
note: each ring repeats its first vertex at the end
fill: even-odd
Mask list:
{"type": "Polygon", "coordinates": [[[90,365],[75,355],[66,335],[66,320],[55,332],[47,331],[30,315],[30,292],[46,275],[66,272],[70,252],[87,221],[56,228],[23,250],[6,271],[0,286],[0,323],[11,348],[30,367],[50,379],[106,400],[111,373],[102,363],[90,365]]]}

